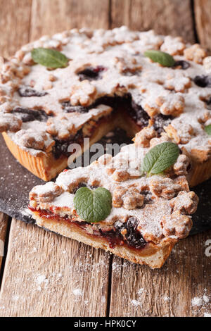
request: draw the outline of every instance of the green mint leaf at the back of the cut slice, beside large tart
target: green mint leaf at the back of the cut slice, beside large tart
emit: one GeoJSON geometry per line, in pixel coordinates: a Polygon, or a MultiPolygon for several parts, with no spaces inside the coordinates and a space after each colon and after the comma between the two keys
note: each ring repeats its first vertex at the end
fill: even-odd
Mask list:
{"type": "Polygon", "coordinates": [[[173,142],[162,142],[148,151],[143,158],[143,170],[149,175],[162,173],[173,165],[179,156],[179,147],[173,142]]]}

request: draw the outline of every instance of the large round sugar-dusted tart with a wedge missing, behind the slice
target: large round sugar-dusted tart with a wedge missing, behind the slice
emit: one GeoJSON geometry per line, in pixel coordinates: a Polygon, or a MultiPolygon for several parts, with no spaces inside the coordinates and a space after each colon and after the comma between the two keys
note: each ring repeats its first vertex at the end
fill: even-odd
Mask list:
{"type": "Polygon", "coordinates": [[[0,61],[0,131],[21,164],[51,180],[68,165],[70,144],[86,149],[84,138],[93,144],[116,126],[130,137],[144,130],[146,146],[159,137],[179,145],[196,185],[211,175],[203,61],[198,44],[127,27],[41,37],[0,61]],[[49,50],[57,52],[53,62],[49,50]]]}

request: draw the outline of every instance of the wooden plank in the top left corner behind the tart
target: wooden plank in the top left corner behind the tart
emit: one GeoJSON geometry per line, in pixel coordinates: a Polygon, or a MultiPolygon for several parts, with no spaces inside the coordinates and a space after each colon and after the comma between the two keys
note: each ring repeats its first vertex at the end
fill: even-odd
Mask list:
{"type": "Polygon", "coordinates": [[[0,0],[0,55],[11,56],[29,40],[31,0],[0,0]]]}

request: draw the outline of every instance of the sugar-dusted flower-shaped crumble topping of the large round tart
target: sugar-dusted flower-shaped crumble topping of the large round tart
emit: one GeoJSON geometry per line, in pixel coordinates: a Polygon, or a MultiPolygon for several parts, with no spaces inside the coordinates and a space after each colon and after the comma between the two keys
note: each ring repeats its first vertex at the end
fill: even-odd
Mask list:
{"type": "MultiPolygon", "coordinates": [[[[156,35],[152,30],[73,29],[41,37],[23,46],[9,60],[0,60],[0,130],[7,131],[15,141],[14,132],[33,129],[32,123],[20,122],[20,114],[18,117],[14,112],[18,107],[46,113],[47,120],[39,125],[40,131],[39,127],[34,130],[34,140],[38,135],[42,139],[43,131],[51,139],[64,140],[68,135],[77,135],[93,119],[91,110],[97,108],[94,104],[98,99],[130,95],[133,111],[142,110],[136,116],[136,123],[142,125],[140,129],[152,126],[159,136],[165,130],[187,154],[204,161],[210,157],[210,138],[199,118],[209,109],[211,97],[210,77],[202,65],[205,57],[200,45],[191,46],[180,37],[156,35]],[[69,59],[68,67],[49,70],[34,65],[31,51],[37,47],[61,51],[69,59]],[[167,68],[153,63],[143,56],[149,49],[171,54],[175,65],[167,68]],[[11,114],[9,121],[6,113],[11,114]],[[146,116],[150,118],[148,123],[146,116]],[[159,116],[163,116],[162,120],[159,116]]],[[[103,102],[110,106],[106,99],[103,102]]],[[[98,114],[101,115],[99,108],[98,114]]],[[[87,131],[84,130],[85,135],[87,131]]],[[[144,133],[142,138],[146,146],[147,135],[144,133]]],[[[24,141],[18,139],[30,153],[45,152],[38,145],[34,149],[29,142],[27,146],[22,144],[24,141]]]]}

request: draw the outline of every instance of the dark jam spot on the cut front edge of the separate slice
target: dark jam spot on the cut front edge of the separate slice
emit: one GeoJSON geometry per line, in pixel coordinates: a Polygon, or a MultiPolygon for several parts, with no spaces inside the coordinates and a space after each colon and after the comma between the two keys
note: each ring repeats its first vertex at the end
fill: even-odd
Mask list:
{"type": "Polygon", "coordinates": [[[130,217],[127,220],[127,223],[121,223],[120,221],[117,221],[114,225],[117,235],[119,236],[122,236],[122,230],[127,230],[127,234],[125,235],[125,238],[127,239],[127,244],[129,244],[129,246],[135,247],[136,249],[140,249],[146,246],[146,241],[143,239],[141,233],[137,230],[138,224],[139,221],[137,220],[137,218],[130,217]]]}

